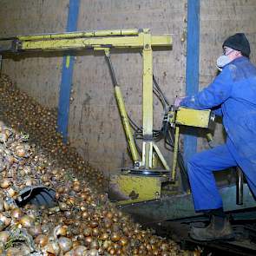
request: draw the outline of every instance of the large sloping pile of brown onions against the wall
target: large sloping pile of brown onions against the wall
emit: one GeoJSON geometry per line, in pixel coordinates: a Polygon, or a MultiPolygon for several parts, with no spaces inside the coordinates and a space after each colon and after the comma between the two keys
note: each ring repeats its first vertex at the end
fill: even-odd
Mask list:
{"type": "Polygon", "coordinates": [[[56,112],[5,75],[0,102],[0,255],[193,255],[117,210],[103,175],[62,143],[56,112]],[[36,185],[56,190],[56,207],[16,206],[20,189],[36,185]]]}

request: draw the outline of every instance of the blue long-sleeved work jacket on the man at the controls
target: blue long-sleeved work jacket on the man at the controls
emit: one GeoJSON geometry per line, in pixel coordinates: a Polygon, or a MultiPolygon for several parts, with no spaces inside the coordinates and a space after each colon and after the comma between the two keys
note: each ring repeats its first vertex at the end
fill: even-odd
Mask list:
{"type": "Polygon", "coordinates": [[[245,56],[228,63],[213,82],[181,106],[216,108],[226,129],[226,146],[256,194],[256,67],[245,56]]]}

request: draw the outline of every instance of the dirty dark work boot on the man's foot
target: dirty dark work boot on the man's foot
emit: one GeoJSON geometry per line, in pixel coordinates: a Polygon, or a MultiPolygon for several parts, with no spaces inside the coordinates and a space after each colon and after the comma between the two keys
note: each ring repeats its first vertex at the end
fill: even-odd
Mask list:
{"type": "Polygon", "coordinates": [[[213,215],[206,227],[192,227],[190,237],[194,240],[231,240],[234,238],[233,229],[229,220],[213,215]]]}

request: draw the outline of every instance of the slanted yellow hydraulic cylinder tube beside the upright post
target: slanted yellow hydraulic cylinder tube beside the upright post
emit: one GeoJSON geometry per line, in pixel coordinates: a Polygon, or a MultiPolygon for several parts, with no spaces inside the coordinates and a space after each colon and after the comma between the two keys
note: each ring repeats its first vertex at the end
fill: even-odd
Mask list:
{"type": "Polygon", "coordinates": [[[121,123],[125,131],[125,135],[127,137],[128,146],[131,150],[133,161],[139,161],[140,160],[140,154],[138,153],[138,150],[135,146],[135,139],[132,133],[132,129],[130,127],[130,123],[128,121],[128,115],[125,108],[125,104],[123,102],[123,97],[121,95],[121,89],[119,86],[115,86],[115,99],[118,105],[118,109],[121,115],[121,123]]]}

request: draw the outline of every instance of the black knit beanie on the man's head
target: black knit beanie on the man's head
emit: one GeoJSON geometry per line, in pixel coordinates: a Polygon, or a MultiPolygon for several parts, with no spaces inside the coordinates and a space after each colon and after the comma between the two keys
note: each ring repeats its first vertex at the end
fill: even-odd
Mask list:
{"type": "Polygon", "coordinates": [[[250,43],[244,33],[237,33],[227,37],[222,44],[222,48],[224,48],[224,46],[239,50],[243,56],[249,57],[251,53],[250,43]]]}

